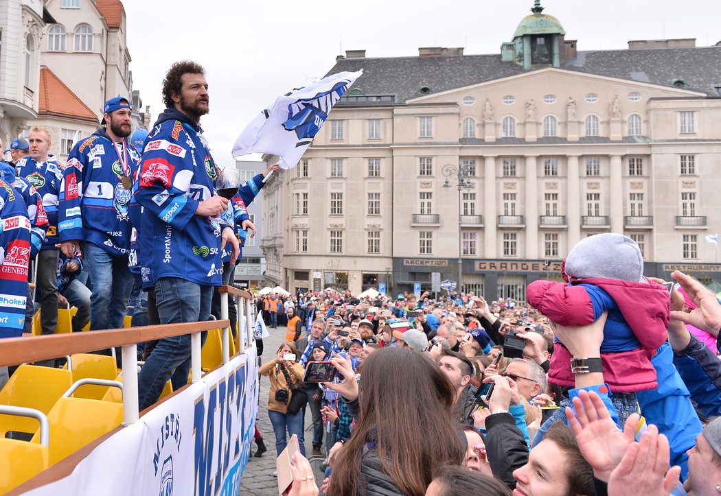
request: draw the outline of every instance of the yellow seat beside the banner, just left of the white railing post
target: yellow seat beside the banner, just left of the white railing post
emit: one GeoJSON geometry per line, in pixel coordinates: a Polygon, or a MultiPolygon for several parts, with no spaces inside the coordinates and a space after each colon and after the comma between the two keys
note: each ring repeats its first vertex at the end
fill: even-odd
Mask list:
{"type": "MultiPolygon", "coordinates": [[[[50,466],[115,429],[122,422],[122,403],[87,398],[60,398],[48,413],[50,466]]],[[[30,442],[39,441],[38,431],[30,442]]]]}

